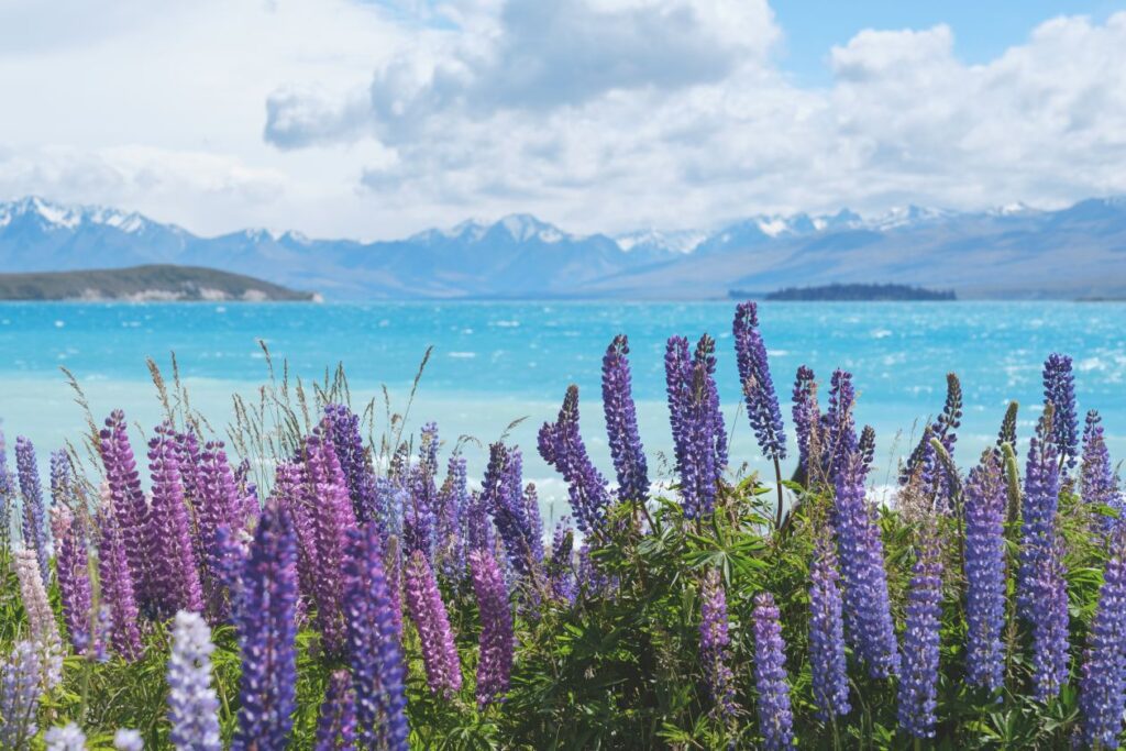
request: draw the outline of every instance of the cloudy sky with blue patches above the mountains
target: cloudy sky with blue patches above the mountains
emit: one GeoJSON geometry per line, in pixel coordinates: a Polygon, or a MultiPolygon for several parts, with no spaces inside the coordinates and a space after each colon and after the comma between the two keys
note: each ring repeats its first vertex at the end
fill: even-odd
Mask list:
{"type": "Polygon", "coordinates": [[[1126,194],[1126,0],[7,0],[0,199],[574,232],[1126,194]]]}

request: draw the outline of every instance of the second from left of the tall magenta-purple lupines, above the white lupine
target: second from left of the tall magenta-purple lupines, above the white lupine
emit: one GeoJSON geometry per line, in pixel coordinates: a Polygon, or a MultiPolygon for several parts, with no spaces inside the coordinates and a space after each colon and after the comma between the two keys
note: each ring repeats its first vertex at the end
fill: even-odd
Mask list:
{"type": "Polygon", "coordinates": [[[157,427],[149,441],[149,470],[152,472],[149,524],[155,529],[153,538],[158,542],[151,583],[154,614],[160,618],[171,617],[177,610],[199,613],[204,609],[175,441],[176,433],[167,422],[157,427]]]}

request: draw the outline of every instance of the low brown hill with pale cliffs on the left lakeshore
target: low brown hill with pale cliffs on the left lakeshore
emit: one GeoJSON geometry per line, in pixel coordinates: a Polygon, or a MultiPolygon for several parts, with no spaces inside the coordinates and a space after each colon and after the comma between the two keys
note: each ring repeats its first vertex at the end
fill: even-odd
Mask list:
{"type": "Polygon", "coordinates": [[[120,301],[310,301],[294,292],[240,274],[194,266],[135,266],[89,271],[0,274],[0,299],[120,301]]]}

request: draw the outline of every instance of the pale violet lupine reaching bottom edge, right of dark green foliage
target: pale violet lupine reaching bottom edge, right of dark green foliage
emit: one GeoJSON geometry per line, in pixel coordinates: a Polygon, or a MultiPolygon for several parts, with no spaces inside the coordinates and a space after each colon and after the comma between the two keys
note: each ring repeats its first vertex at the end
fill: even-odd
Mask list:
{"type": "Polygon", "coordinates": [[[794,746],[794,714],[786,682],[786,642],[774,596],[754,598],[754,688],[759,692],[759,731],[768,751],[794,746]]]}

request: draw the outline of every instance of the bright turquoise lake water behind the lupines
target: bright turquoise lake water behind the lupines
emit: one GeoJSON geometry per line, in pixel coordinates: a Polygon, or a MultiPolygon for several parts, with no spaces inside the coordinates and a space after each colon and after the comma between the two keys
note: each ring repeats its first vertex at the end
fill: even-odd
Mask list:
{"type": "MultiPolygon", "coordinates": [[[[732,458],[766,468],[742,415],[735,419],[733,312],[734,303],[0,303],[0,417],[9,442],[26,435],[43,457],[77,438],[83,419],[60,373],[65,366],[99,419],[120,406],[131,421],[151,426],[160,409],[145,357],[167,366],[175,351],[194,404],[223,426],[232,417],[231,393],[252,393],[267,377],[259,339],[295,375],[323,377],[327,366],[342,361],[354,403],[386,385],[401,408],[434,346],[412,427],[435,420],[446,439],[464,433],[488,444],[512,420],[527,418],[512,438],[551,506],[562,500],[562,489],[536,456],[535,431],[554,417],[568,384],[577,383],[590,452],[609,468],[599,377],[602,354],[618,332],[629,337],[642,437],[654,466],[670,447],[664,340],[708,332],[718,340],[732,458]]],[[[1052,351],[1074,358],[1080,414],[1099,409],[1115,458],[1126,455],[1126,304],[766,303],[760,319],[787,423],[798,365],[816,372],[823,403],[832,369],[852,370],[858,421],[876,428],[885,476],[910,450],[912,429],[918,435],[918,424],[941,408],[949,370],[965,393],[963,464],[993,440],[1009,400],[1027,405],[1020,420],[1021,448],[1027,446],[1042,400],[1040,367],[1052,351]]],[[[471,473],[479,474],[483,450],[466,450],[471,473]]]]}

